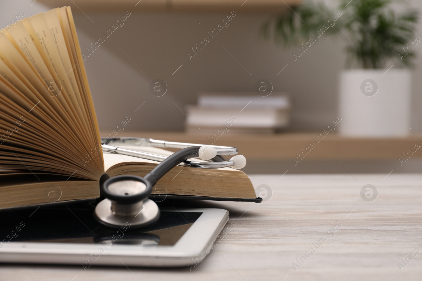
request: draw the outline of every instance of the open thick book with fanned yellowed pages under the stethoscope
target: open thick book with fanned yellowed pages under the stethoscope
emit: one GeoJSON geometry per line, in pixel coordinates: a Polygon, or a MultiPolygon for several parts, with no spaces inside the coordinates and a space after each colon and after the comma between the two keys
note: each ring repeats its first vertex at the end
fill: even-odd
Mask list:
{"type": "MultiPolygon", "coordinates": [[[[158,164],[103,153],[70,7],[0,33],[0,209],[98,198],[103,174],[144,176],[158,164]]],[[[246,174],[231,168],[176,166],[154,193],[256,198],[246,174]]]]}

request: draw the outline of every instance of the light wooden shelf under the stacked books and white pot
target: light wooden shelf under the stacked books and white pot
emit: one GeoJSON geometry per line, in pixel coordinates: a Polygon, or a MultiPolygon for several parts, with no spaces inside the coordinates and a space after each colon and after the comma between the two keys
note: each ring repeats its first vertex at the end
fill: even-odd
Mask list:
{"type": "MultiPolygon", "coordinates": [[[[101,136],[110,132],[103,131],[101,136]]],[[[283,134],[235,134],[230,131],[223,133],[213,143],[238,147],[241,154],[253,160],[291,160],[298,157],[314,143],[305,158],[314,160],[391,160],[403,157],[403,153],[411,150],[418,142],[422,145],[422,136],[408,136],[405,138],[349,138],[330,133],[319,143],[314,138],[319,133],[283,133],[283,134]],[[420,137],[420,138],[419,138],[420,137]],[[331,153],[331,155],[330,155],[331,153]],[[333,158],[334,157],[334,158],[333,158]]],[[[212,134],[188,134],[182,132],[139,132],[127,131],[116,136],[149,137],[174,142],[207,143],[212,134]]],[[[415,149],[413,149],[415,150],[415,149]]],[[[422,153],[418,149],[411,158],[420,158],[422,153]]],[[[309,151],[309,149],[308,149],[309,151]]],[[[410,154],[409,154],[410,155],[410,154]]]]}

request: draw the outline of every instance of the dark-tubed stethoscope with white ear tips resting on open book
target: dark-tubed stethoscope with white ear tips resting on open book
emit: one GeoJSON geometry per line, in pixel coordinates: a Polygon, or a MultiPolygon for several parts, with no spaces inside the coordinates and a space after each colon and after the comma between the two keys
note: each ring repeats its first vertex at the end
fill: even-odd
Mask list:
{"type": "Polygon", "coordinates": [[[198,145],[183,142],[167,142],[146,138],[101,138],[104,152],[129,155],[143,159],[159,161],[145,177],[122,175],[111,177],[100,186],[101,194],[106,197],[97,204],[94,217],[103,225],[109,227],[122,227],[130,224],[130,227],[147,227],[154,224],[160,218],[160,209],[157,203],[149,199],[152,187],[168,171],[179,164],[193,168],[216,169],[233,167],[242,169],[246,166],[246,158],[238,153],[236,147],[198,145]],[[135,150],[123,149],[113,145],[123,146],[150,146],[181,148],[181,150],[165,157],[135,150]],[[220,155],[235,155],[229,161],[220,155]],[[191,158],[200,158],[203,161],[212,160],[217,162],[190,161],[191,158]]]}

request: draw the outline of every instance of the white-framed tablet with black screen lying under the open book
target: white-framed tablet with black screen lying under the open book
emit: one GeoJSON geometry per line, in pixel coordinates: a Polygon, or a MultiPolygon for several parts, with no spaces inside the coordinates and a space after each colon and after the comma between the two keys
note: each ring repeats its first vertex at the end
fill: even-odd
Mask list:
{"type": "Polygon", "coordinates": [[[129,223],[105,227],[91,209],[76,207],[2,213],[0,262],[72,264],[85,270],[96,265],[196,265],[211,251],[229,218],[224,209],[160,211],[159,221],[146,229],[129,223]]]}

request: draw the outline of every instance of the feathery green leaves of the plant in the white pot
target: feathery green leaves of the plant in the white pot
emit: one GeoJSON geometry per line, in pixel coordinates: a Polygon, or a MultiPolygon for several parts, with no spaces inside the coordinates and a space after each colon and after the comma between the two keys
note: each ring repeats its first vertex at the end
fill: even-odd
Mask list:
{"type": "MultiPolygon", "coordinates": [[[[300,45],[320,33],[345,32],[346,52],[363,68],[383,68],[388,61],[411,67],[415,40],[416,11],[398,12],[390,0],[341,0],[341,16],[323,3],[306,1],[262,25],[262,35],[285,47],[300,45]],[[328,20],[333,26],[327,28],[328,20]]],[[[420,41],[420,40],[419,40],[420,41]]]]}

